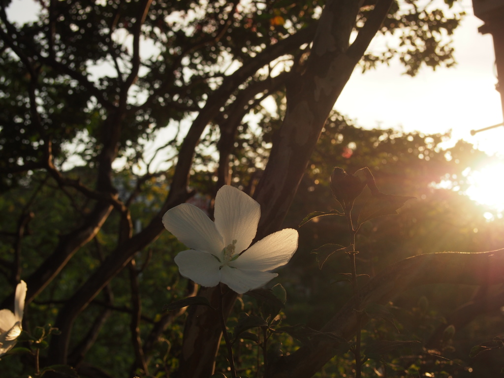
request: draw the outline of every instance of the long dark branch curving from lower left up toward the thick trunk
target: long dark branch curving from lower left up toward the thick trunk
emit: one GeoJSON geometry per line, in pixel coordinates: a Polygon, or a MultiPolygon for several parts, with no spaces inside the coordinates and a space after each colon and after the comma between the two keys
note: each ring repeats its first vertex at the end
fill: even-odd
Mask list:
{"type": "MultiPolygon", "coordinates": [[[[198,115],[197,119],[188,132],[182,148],[179,152],[179,159],[173,179],[170,185],[170,192],[159,213],[151,220],[149,225],[140,233],[134,235],[130,240],[125,241],[107,257],[105,262],[91,275],[86,283],[69,299],[65,307],[59,311],[55,326],[61,331],[61,335],[54,336],[51,339],[50,352],[51,363],[66,363],[67,348],[70,341],[70,332],[73,322],[78,314],[86,308],[91,300],[100,292],[100,290],[109,282],[109,280],[121,271],[131,260],[133,255],[154,240],[164,229],[162,217],[164,213],[188,198],[186,185],[188,174],[192,166],[192,157],[194,149],[205,129],[207,123],[212,119],[220,109],[220,104],[226,101],[225,96],[232,93],[235,88],[248,76],[254,74],[259,68],[263,67],[265,61],[280,56],[295,46],[309,41],[313,28],[306,28],[295,35],[280,41],[277,44],[266,48],[263,53],[258,54],[250,63],[243,66],[233,75],[225,79],[223,85],[213,93],[212,101],[208,101],[205,109],[198,115]],[[305,41],[306,40],[306,41],[305,41]],[[261,57],[258,59],[258,57],[261,57]],[[207,107],[208,106],[208,107],[207,107]]],[[[269,61],[269,60],[268,60],[269,61]]],[[[267,62],[267,61],[266,61],[267,62]]],[[[220,332],[220,331],[219,331],[220,332]]]]}

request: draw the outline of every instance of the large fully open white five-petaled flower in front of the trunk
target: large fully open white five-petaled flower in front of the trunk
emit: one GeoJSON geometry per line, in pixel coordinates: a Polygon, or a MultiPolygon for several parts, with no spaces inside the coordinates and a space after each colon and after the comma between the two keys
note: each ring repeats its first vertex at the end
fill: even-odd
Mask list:
{"type": "Polygon", "coordinates": [[[164,226],[191,248],[175,257],[180,274],[202,286],[222,282],[239,294],[276,277],[270,271],[289,262],[298,234],[286,228],[246,249],[256,236],[260,217],[261,206],[229,185],[222,186],[215,197],[215,222],[190,204],[168,210],[164,226]]]}

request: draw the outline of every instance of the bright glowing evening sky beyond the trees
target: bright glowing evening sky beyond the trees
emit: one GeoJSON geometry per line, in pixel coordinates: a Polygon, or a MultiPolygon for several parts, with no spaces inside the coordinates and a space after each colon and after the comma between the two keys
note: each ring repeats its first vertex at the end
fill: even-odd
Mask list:
{"type": "MultiPolygon", "coordinates": [[[[455,68],[424,67],[414,78],[402,75],[405,70],[397,61],[365,74],[357,68],[336,103],[337,110],[359,127],[425,134],[452,130],[450,144],[464,139],[488,154],[504,156],[504,127],[470,135],[471,130],[502,122],[502,110],[495,90],[492,37],[478,32],[483,22],[473,15],[471,0],[460,4],[466,16],[453,36],[455,68]]],[[[35,20],[38,9],[34,0],[13,0],[7,11],[10,19],[22,23],[35,20]]],[[[494,182],[493,172],[490,182],[494,182]]],[[[481,177],[478,181],[483,182],[481,177]]],[[[486,187],[474,186],[471,197],[479,202],[500,201],[497,208],[504,210],[500,192],[487,193],[486,187]]]]}

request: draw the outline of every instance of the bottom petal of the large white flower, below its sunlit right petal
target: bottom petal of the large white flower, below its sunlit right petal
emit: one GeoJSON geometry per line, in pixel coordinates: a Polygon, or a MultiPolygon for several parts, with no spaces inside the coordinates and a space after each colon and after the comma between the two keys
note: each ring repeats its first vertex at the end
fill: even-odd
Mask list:
{"type": "Polygon", "coordinates": [[[257,289],[276,276],[278,276],[276,273],[241,270],[229,266],[223,266],[221,269],[221,282],[225,283],[238,294],[257,289]]]}

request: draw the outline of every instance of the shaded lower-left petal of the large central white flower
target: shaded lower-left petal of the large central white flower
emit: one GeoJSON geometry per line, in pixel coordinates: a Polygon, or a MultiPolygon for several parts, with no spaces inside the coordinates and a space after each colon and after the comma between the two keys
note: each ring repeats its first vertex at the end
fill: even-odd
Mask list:
{"type": "Polygon", "coordinates": [[[217,286],[220,281],[221,263],[215,256],[199,250],[188,249],[175,256],[175,263],[182,276],[202,286],[217,286]]]}

